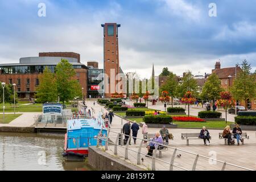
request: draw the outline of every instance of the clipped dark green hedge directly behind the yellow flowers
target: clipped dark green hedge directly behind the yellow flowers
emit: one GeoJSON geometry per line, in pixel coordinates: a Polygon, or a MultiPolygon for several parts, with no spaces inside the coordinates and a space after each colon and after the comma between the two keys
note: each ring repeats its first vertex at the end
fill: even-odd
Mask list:
{"type": "Polygon", "coordinates": [[[145,123],[169,124],[172,122],[172,117],[170,115],[145,115],[143,121],[145,123]]]}

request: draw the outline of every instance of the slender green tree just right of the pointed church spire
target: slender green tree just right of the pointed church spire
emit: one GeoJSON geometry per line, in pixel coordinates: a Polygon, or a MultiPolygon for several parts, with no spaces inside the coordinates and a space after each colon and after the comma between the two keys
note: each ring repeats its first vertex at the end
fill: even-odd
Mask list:
{"type": "Polygon", "coordinates": [[[167,78],[167,81],[165,84],[163,84],[160,87],[160,92],[163,92],[163,90],[167,90],[171,96],[171,101],[172,101],[172,107],[173,107],[173,101],[174,98],[177,96],[177,77],[174,73],[170,72],[170,75],[167,78]]]}

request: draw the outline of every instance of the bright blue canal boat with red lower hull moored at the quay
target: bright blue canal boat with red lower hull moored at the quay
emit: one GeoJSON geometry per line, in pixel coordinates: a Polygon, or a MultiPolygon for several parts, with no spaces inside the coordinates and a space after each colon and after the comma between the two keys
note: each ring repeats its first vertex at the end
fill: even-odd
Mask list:
{"type": "MultiPolygon", "coordinates": [[[[106,137],[107,130],[101,117],[69,119],[65,134],[63,156],[68,161],[84,160],[88,156],[89,146],[97,145],[97,137],[106,137]]],[[[104,139],[99,140],[104,146],[104,139]]]]}

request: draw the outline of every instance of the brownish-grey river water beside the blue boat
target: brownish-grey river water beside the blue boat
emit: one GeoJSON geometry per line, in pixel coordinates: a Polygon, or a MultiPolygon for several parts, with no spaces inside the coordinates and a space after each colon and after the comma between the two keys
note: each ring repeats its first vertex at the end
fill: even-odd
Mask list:
{"type": "Polygon", "coordinates": [[[63,134],[0,133],[0,171],[89,171],[86,162],[65,162],[63,134]]]}

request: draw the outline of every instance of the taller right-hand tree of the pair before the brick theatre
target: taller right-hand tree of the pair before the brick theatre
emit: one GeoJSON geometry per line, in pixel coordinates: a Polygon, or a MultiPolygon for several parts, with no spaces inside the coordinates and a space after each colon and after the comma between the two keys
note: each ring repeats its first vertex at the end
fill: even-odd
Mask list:
{"type": "Polygon", "coordinates": [[[61,59],[56,65],[56,86],[57,93],[60,96],[60,101],[65,104],[65,101],[73,100],[74,97],[81,97],[81,85],[75,80],[75,69],[68,60],[61,59]]]}

